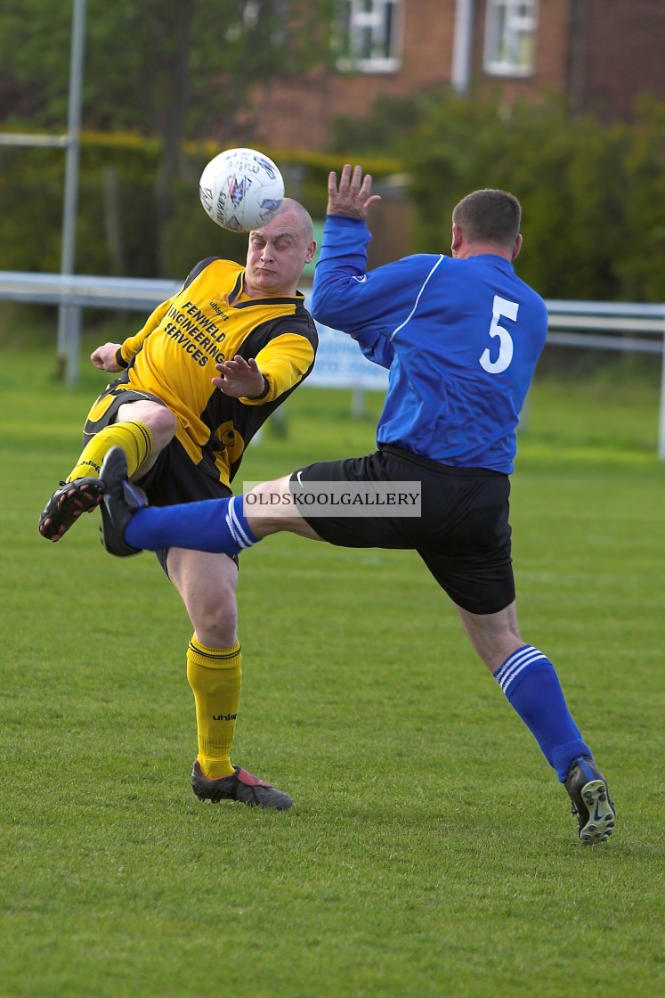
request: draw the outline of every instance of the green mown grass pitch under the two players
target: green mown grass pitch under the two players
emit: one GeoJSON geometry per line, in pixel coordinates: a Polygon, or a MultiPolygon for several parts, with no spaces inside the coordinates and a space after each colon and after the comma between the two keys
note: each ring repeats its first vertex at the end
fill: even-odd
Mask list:
{"type": "MultiPolygon", "coordinates": [[[[282,536],[242,557],[234,760],[288,812],[200,804],[190,626],[98,514],[37,518],[104,384],[0,369],[1,998],[654,998],[663,981],[665,466],[657,386],[542,381],[511,519],[520,625],[608,776],[568,798],[417,556],[282,536]]],[[[241,477],[373,447],[380,399],[303,388],[241,477]]]]}

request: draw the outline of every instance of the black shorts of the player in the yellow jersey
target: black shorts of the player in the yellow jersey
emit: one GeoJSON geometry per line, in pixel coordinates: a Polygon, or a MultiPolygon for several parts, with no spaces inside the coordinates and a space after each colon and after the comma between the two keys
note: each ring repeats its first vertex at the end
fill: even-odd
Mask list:
{"type": "MultiPolygon", "coordinates": [[[[96,433],[105,426],[116,421],[118,409],[126,402],[137,402],[148,399],[152,402],[164,402],[149,392],[123,389],[114,391],[107,389],[93,405],[83,431],[84,446],[96,433]]],[[[166,445],[158,456],[150,471],[137,479],[137,484],[148,496],[152,506],[173,506],[176,503],[198,502],[202,499],[224,499],[231,496],[232,490],[219,481],[215,472],[214,462],[210,458],[194,464],[182,444],[175,437],[166,445]]],[[[167,548],[157,551],[162,568],[166,571],[167,548]]],[[[238,564],[237,555],[228,556],[238,564]]]]}

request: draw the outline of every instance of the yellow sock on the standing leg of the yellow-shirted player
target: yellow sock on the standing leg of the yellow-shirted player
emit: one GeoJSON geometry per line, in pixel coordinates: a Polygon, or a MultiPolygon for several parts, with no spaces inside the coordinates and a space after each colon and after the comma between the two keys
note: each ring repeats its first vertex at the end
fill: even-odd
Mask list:
{"type": "Polygon", "coordinates": [[[198,764],[208,779],[230,776],[231,744],[240,702],[240,645],[205,648],[195,636],[187,649],[187,680],[196,705],[198,764]]]}

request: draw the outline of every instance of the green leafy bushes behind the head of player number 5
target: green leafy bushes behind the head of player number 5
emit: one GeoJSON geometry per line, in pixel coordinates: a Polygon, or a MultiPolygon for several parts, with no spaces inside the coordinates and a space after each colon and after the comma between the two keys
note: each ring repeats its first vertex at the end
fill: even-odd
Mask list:
{"type": "Polygon", "coordinates": [[[558,99],[506,107],[437,91],[379,102],[337,135],[361,154],[383,136],[402,159],[412,250],[446,251],[457,202],[501,188],[521,202],[517,269],[540,293],[665,300],[665,105],[642,99],[631,124],[608,126],[571,118],[558,99]]]}

